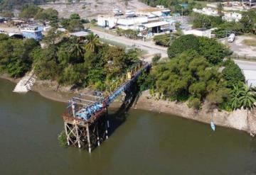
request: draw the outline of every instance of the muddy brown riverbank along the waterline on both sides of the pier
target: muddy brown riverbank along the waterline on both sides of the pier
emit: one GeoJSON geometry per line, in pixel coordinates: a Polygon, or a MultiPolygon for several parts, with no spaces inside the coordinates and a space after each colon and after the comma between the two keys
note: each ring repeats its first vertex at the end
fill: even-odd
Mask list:
{"type": "MultiPolygon", "coordinates": [[[[6,75],[1,75],[2,79],[8,79],[9,81],[17,83],[19,79],[11,79],[6,75]]],[[[37,80],[33,86],[32,91],[38,92],[41,96],[49,98],[53,101],[59,101],[66,103],[72,96],[80,92],[85,92],[87,89],[70,90],[70,86],[58,86],[55,81],[41,81],[37,80]]],[[[111,107],[119,106],[119,103],[114,103],[111,107]]],[[[148,91],[144,91],[138,98],[133,108],[143,109],[146,111],[154,111],[158,113],[167,113],[171,115],[177,115],[183,118],[196,120],[202,123],[210,123],[213,121],[215,125],[223,126],[226,128],[233,128],[237,130],[243,130],[250,133],[250,135],[256,134],[256,111],[248,112],[246,110],[237,110],[233,112],[213,111],[208,110],[207,105],[203,105],[200,111],[196,111],[193,108],[188,108],[186,103],[176,103],[173,101],[163,101],[151,98],[148,91]],[[248,120],[248,122],[247,122],[248,120]]]]}

